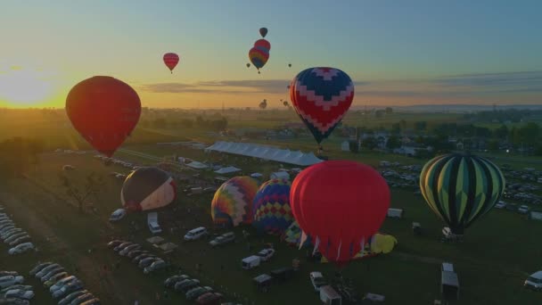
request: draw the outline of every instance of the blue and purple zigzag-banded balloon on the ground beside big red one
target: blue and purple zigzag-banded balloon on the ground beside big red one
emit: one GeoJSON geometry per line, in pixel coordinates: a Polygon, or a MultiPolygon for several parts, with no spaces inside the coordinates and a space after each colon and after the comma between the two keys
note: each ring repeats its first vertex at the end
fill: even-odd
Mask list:
{"type": "Polygon", "coordinates": [[[286,179],[273,179],[259,186],[252,205],[252,226],[259,232],[279,235],[292,224],[290,185],[286,179]]]}

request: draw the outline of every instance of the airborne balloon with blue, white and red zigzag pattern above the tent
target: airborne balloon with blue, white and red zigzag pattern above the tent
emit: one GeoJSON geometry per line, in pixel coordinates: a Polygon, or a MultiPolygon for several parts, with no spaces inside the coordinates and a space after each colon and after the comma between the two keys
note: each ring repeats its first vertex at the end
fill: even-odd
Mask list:
{"type": "Polygon", "coordinates": [[[335,68],[302,70],[290,85],[295,111],[320,144],[349,111],[354,99],[354,83],[335,68]]]}

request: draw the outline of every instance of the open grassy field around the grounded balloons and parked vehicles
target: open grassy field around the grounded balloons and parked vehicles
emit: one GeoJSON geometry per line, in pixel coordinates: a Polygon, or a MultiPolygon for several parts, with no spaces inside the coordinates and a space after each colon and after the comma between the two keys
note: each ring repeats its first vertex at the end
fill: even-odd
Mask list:
{"type": "MultiPolygon", "coordinates": [[[[144,152],[159,157],[178,153],[179,156],[193,157],[199,161],[212,158],[202,155],[201,151],[157,145],[125,145],[124,148],[127,151],[144,152]]],[[[375,153],[336,153],[333,156],[337,158],[355,156],[358,161],[374,165],[379,160],[393,161],[387,158],[388,156],[375,153]]],[[[127,152],[119,152],[119,156],[144,160],[127,152]]],[[[88,153],[45,153],[40,161],[37,168],[28,173],[29,178],[18,178],[0,185],[0,202],[4,202],[4,206],[13,214],[19,226],[29,231],[40,251],[8,257],[7,247],[2,244],[0,267],[17,270],[28,276],[29,269],[37,260],[55,260],[79,276],[86,287],[106,304],[132,304],[134,300],[143,304],[158,303],[155,301],[155,293],[164,291],[161,283],[176,271],[144,276],[141,270],[105,247],[105,243],[111,238],[121,237],[141,242],[145,248],[151,250],[150,244],[144,242],[144,238],[151,234],[146,229],[143,213],[128,215],[119,224],[111,225],[107,221],[111,211],[119,207],[121,187],[121,182],[108,174],[113,170],[127,172],[127,169],[114,165],[106,167],[88,153]],[[57,177],[63,164],[71,164],[77,168],[67,172],[74,181],[94,171],[107,182],[100,194],[92,200],[94,211],[82,213],[69,203],[57,177]],[[129,225],[132,221],[136,222],[136,229],[129,225]],[[89,249],[94,251],[89,253],[89,249]],[[121,261],[120,268],[111,269],[111,265],[118,260],[121,261]],[[106,266],[106,271],[103,271],[103,266],[106,266]]],[[[243,164],[234,158],[229,161],[247,172],[257,171],[262,165],[268,167],[266,170],[279,167],[276,163],[250,161],[243,164]]],[[[407,160],[404,161],[406,163],[407,160]]],[[[416,162],[414,159],[408,161],[416,162]]],[[[181,184],[179,188],[182,186],[181,184]]],[[[242,241],[242,227],[234,230],[238,242],[224,248],[212,250],[204,241],[181,243],[185,230],[201,224],[210,226],[209,204],[212,194],[193,197],[187,197],[181,192],[179,194],[177,202],[160,210],[163,215],[160,218],[168,215],[168,218],[175,218],[181,226],[174,233],[167,230],[168,232],[162,235],[168,241],[180,245],[170,256],[176,270],[181,268],[183,272],[200,278],[203,284],[212,285],[229,299],[237,295],[243,304],[318,302],[308,281],[308,273],[320,270],[329,278],[336,270],[332,264],[308,262],[305,260],[306,250],[297,250],[280,243],[275,236],[257,237],[250,227],[250,251],[247,242],[242,241]],[[242,270],[240,260],[259,251],[263,243],[274,243],[277,250],[275,257],[255,270],[242,270]],[[251,283],[252,277],[273,268],[291,266],[293,258],[300,258],[301,267],[289,282],[272,286],[270,293],[259,293],[255,289],[251,283]],[[195,269],[196,263],[203,264],[200,272],[195,269]],[[221,267],[224,270],[221,270],[221,267]]],[[[539,236],[542,235],[541,222],[527,220],[520,214],[507,210],[493,210],[467,230],[464,243],[448,244],[439,242],[443,224],[423,203],[422,197],[415,196],[412,191],[393,189],[391,205],[406,210],[406,218],[386,219],[382,227],[383,233],[398,238],[396,249],[388,255],[352,262],[342,270],[343,276],[351,278],[360,293],[383,294],[388,304],[429,304],[432,300],[439,299],[440,295],[439,263],[451,261],[455,263],[462,285],[458,304],[538,304],[540,293],[524,290],[522,282],[528,274],[540,268],[538,259],[542,254],[542,245],[539,243],[539,236]],[[412,234],[412,221],[422,224],[424,235],[412,234]]],[[[29,283],[38,285],[33,279],[29,283]]],[[[54,303],[50,295],[45,293],[45,289],[36,287],[36,292],[35,303],[54,303]]],[[[160,304],[188,303],[180,294],[169,291],[168,295],[170,299],[160,300],[160,304]]]]}

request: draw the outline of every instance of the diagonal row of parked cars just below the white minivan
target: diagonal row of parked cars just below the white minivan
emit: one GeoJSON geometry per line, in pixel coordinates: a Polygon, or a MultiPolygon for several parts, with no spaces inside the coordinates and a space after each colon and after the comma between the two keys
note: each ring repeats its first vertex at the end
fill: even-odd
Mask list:
{"type": "Polygon", "coordinates": [[[139,243],[114,240],[107,245],[120,256],[132,260],[138,268],[143,269],[145,275],[169,266],[167,261],[160,259],[150,251],[143,250],[139,243]]]}

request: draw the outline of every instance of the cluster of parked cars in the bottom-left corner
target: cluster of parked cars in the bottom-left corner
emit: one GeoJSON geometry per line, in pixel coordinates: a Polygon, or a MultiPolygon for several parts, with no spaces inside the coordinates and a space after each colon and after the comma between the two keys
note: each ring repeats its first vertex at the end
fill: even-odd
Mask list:
{"type": "Polygon", "coordinates": [[[23,282],[24,276],[16,271],[0,271],[0,304],[29,304],[34,290],[23,282]]]}

